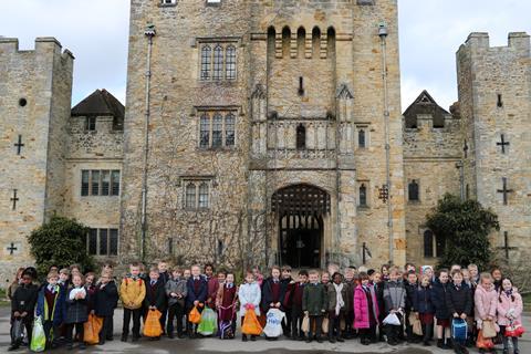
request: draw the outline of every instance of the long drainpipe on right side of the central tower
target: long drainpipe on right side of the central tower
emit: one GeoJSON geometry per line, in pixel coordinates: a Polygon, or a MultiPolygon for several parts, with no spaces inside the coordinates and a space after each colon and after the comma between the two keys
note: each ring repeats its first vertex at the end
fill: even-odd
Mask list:
{"type": "Polygon", "coordinates": [[[384,84],[384,125],[385,125],[385,177],[387,185],[387,229],[389,238],[389,263],[393,264],[394,256],[394,237],[393,237],[393,205],[391,192],[391,145],[389,145],[389,103],[388,103],[388,88],[387,88],[387,24],[381,22],[378,25],[378,37],[382,45],[382,80],[384,84]]]}

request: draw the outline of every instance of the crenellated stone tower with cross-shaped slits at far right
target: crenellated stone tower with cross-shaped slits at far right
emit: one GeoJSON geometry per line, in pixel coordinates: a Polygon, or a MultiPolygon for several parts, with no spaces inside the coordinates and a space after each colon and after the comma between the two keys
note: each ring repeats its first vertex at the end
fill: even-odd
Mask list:
{"type": "Polygon", "coordinates": [[[493,244],[518,261],[531,236],[530,37],[509,33],[507,46],[471,33],[457,52],[465,139],[465,188],[499,217],[493,244]]]}

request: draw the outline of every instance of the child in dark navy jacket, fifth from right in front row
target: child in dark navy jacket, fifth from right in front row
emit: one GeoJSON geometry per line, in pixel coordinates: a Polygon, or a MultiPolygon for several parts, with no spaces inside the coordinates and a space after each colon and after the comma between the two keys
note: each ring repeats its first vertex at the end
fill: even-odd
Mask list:
{"type": "Polygon", "coordinates": [[[431,334],[434,333],[434,294],[431,289],[431,277],[424,274],[420,278],[420,284],[416,289],[415,310],[418,311],[418,317],[423,325],[423,343],[429,346],[431,334]]]}

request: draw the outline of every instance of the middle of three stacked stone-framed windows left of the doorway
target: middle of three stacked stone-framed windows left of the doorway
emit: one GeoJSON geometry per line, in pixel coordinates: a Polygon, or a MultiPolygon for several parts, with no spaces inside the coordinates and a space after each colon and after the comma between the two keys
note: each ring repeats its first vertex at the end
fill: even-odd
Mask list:
{"type": "MultiPolygon", "coordinates": [[[[218,106],[218,107],[196,107],[196,115],[199,116],[197,121],[197,148],[201,150],[233,150],[238,144],[238,122],[239,110],[236,106],[218,106]],[[221,117],[221,145],[214,144],[215,118],[221,117]],[[204,122],[208,118],[208,144],[204,143],[204,122]],[[232,132],[228,129],[232,127],[232,132]],[[232,135],[230,135],[232,133],[232,135]]],[[[217,131],[216,131],[217,132],[217,131]]]]}

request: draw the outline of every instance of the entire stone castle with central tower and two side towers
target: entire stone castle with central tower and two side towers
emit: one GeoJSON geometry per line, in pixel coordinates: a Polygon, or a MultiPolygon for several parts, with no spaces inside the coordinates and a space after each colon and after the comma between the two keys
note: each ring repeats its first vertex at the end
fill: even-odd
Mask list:
{"type": "Polygon", "coordinates": [[[126,107],[71,108],[74,58],[0,38],[0,277],[53,214],[87,251],[228,267],[434,263],[445,192],[531,243],[530,38],[457,52],[459,101],[400,108],[396,0],[132,0],[126,107]]]}

